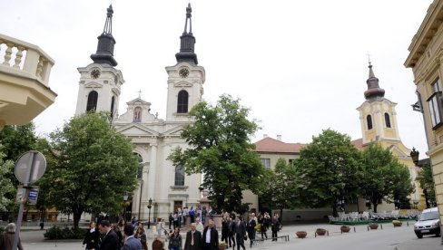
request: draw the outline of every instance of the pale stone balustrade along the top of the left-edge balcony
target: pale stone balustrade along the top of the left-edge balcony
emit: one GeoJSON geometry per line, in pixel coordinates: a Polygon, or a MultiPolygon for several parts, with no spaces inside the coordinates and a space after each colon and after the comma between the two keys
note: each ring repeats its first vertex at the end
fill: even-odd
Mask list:
{"type": "MultiPolygon", "coordinates": [[[[0,58],[0,71],[25,73],[48,86],[49,74],[54,66],[54,60],[49,55],[34,44],[0,34],[0,50],[4,48],[5,56],[0,58]]],[[[3,54],[2,51],[0,54],[3,54]]]]}

